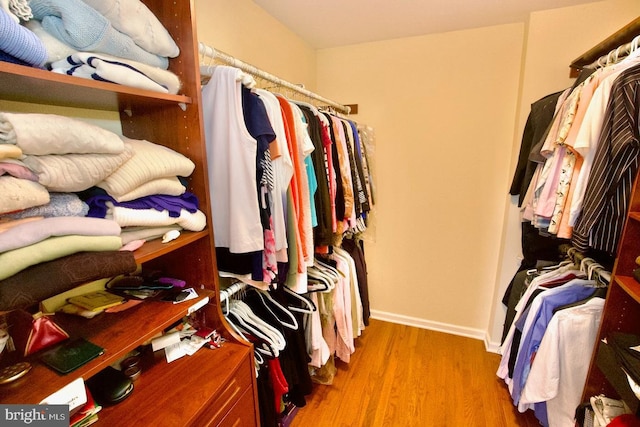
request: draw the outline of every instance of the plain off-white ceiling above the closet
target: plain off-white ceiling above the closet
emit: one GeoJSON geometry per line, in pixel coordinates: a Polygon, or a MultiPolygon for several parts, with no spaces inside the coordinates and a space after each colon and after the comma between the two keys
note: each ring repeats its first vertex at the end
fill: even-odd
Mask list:
{"type": "Polygon", "coordinates": [[[253,0],[317,49],[526,21],[597,0],[253,0]]]}

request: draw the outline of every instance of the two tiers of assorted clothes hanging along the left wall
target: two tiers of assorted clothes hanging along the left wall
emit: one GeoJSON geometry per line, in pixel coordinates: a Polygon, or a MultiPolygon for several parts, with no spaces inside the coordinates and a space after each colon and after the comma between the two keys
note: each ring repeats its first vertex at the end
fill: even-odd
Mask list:
{"type": "Polygon", "coordinates": [[[331,382],[368,324],[358,238],[373,178],[356,123],[254,84],[214,67],[203,114],[218,268],[244,284],[241,299],[221,296],[223,313],[254,344],[270,425],[312,381],[331,382]]]}

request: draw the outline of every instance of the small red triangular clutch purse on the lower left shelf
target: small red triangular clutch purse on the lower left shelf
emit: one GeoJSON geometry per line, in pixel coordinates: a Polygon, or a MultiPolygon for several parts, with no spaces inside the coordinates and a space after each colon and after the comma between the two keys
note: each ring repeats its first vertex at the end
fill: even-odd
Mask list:
{"type": "Polygon", "coordinates": [[[15,310],[9,316],[9,334],[16,350],[25,356],[51,347],[69,338],[51,317],[38,312],[30,314],[23,310],[15,310]]]}

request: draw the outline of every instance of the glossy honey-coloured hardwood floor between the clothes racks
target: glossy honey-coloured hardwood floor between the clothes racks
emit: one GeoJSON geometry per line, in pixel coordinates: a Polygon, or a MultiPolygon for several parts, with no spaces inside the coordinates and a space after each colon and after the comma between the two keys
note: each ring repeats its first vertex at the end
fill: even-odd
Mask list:
{"type": "Polygon", "coordinates": [[[372,319],[332,385],[314,385],[291,427],[533,427],[479,340],[372,319]]]}

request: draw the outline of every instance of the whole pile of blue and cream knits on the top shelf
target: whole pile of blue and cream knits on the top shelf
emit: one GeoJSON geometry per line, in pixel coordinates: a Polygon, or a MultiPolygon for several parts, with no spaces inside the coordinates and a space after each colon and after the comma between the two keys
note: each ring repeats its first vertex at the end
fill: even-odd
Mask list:
{"type": "Polygon", "coordinates": [[[6,0],[0,60],[177,94],[173,37],[140,0],[6,0]]]}

